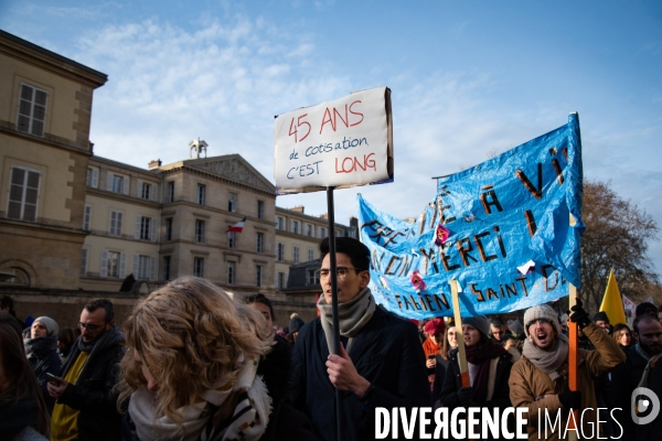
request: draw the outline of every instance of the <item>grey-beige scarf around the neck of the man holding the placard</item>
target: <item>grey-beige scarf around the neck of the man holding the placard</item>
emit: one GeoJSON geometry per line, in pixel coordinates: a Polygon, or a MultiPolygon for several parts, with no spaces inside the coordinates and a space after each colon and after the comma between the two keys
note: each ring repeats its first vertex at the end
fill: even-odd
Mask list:
{"type": "MultiPolygon", "coordinates": [[[[329,354],[333,354],[333,313],[331,304],[327,303],[324,295],[320,295],[318,302],[320,309],[320,319],[322,322],[322,329],[327,336],[327,345],[329,345],[329,354]]],[[[345,351],[349,353],[352,342],[359,331],[365,326],[370,319],[375,313],[375,299],[370,292],[370,289],[364,288],[359,294],[350,300],[349,302],[338,303],[338,322],[340,324],[340,335],[349,337],[348,347],[345,351]]]]}

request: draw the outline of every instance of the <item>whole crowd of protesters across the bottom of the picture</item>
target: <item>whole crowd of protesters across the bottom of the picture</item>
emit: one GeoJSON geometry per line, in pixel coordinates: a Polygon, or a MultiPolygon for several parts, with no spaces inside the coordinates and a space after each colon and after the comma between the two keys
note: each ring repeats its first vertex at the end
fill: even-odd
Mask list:
{"type": "MultiPolygon", "coordinates": [[[[424,407],[524,408],[530,440],[564,439],[565,424],[541,434],[541,411],[564,422],[581,412],[586,439],[660,439],[662,418],[631,417],[634,389],[662,396],[662,312],[653,304],[638,306],[632,329],[605,312],[590,316],[579,301],[560,316],[541,304],[516,320],[462,318],[460,330],[437,318],[417,327],[375,303],[370,252],[342,237],[333,330],[328,239],[320,251],[320,316],[292,314],[287,332],[264,294],[239,302],[192,277],[139,300],[119,325],[113,303],[98,299],[75,329],[47,316],[28,326],[2,297],[0,439],[372,440],[377,408],[424,407]],[[577,390],[568,321],[580,332],[577,390]]],[[[508,424],[515,430],[514,418],[508,424]]]]}

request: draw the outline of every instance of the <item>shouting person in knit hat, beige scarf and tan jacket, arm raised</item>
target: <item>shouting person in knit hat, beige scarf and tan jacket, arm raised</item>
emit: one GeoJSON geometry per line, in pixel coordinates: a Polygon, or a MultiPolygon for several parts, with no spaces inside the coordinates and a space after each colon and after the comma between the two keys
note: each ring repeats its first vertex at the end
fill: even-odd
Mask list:
{"type": "MultiPolygon", "coordinates": [[[[541,431],[544,429],[537,424],[543,413],[549,416],[551,420],[560,418],[563,421],[557,427],[547,427],[548,432],[544,438],[563,439],[562,427],[572,418],[573,409],[584,409],[579,428],[583,433],[596,432],[592,426],[592,421],[598,420],[595,380],[626,361],[616,341],[606,337],[602,330],[590,321],[579,299],[572,311],[570,321],[577,323],[597,348],[577,348],[578,390],[568,387],[569,344],[568,337],[562,333],[556,311],[547,304],[541,304],[524,313],[526,341],[522,358],[513,365],[509,383],[512,406],[528,409],[525,418],[528,420],[530,440],[543,438],[541,431]]],[[[599,433],[596,439],[605,438],[601,427],[599,433]]]]}

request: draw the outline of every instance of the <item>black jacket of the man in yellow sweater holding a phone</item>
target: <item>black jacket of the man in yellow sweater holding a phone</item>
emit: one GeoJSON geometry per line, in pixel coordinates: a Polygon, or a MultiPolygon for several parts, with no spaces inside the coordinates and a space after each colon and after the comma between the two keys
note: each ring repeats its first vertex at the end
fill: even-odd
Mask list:
{"type": "MultiPolygon", "coordinates": [[[[65,377],[81,354],[79,340],[74,344],[62,367],[65,377]]],[[[57,400],[78,413],[78,440],[120,440],[121,417],[117,411],[117,394],[113,392],[117,380],[118,363],[124,348],[124,335],[113,327],[99,337],[76,384],[70,384],[57,400]]]]}

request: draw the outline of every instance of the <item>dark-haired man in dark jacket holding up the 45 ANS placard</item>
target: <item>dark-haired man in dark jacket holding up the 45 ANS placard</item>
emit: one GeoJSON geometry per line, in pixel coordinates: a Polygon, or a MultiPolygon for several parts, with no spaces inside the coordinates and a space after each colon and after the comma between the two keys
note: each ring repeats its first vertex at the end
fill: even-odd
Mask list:
{"type": "MultiPolygon", "coordinates": [[[[335,239],[341,351],[331,355],[329,239],[320,244],[323,293],[320,318],[299,332],[293,348],[293,405],[314,434],[333,440],[334,388],[342,391],[341,440],[374,439],[375,408],[429,407],[430,390],[416,326],[377,306],[370,282],[370,251],[350,237],[335,239]]],[[[409,413],[409,411],[408,411],[409,413]]],[[[404,435],[403,431],[399,431],[404,435]]]]}

